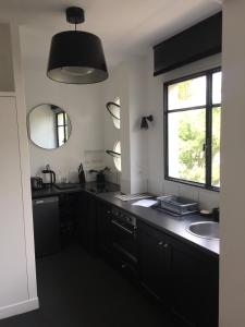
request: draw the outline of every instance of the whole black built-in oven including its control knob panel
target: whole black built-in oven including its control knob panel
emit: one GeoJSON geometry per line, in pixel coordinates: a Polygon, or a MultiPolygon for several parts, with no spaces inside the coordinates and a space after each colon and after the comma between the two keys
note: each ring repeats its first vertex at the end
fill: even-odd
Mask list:
{"type": "Polygon", "coordinates": [[[113,207],[110,223],[113,256],[121,262],[122,268],[131,268],[136,271],[138,263],[136,218],[113,207]]]}

